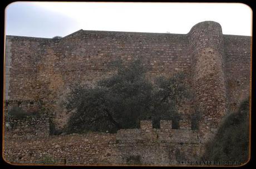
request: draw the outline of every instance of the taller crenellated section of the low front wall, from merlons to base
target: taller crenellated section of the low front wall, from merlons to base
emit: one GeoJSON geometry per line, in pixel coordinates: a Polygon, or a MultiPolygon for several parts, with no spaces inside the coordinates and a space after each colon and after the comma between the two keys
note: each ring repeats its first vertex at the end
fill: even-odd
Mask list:
{"type": "Polygon", "coordinates": [[[172,128],[172,121],[161,120],[160,128],[152,128],[151,121],[140,121],[140,128],[117,131],[116,142],[120,163],[140,157],[145,164],[174,165],[179,164],[179,155],[183,160],[193,160],[203,152],[199,132],[191,130],[186,121],[180,122],[179,129],[172,128]]]}

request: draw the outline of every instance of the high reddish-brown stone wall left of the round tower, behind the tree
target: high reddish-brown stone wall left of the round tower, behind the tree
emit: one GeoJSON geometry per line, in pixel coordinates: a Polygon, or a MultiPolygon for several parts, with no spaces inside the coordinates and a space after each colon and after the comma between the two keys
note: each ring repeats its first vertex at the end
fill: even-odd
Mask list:
{"type": "MultiPolygon", "coordinates": [[[[9,100],[41,100],[56,114],[57,126],[68,117],[60,101],[72,83],[93,84],[111,76],[107,66],[141,58],[148,78],[190,70],[184,34],[78,31],[62,39],[7,36],[11,51],[9,100]],[[35,49],[33,49],[35,48],[35,49]],[[24,63],[24,64],[21,64],[24,63]]],[[[186,110],[189,112],[189,110],[186,110]]]]}

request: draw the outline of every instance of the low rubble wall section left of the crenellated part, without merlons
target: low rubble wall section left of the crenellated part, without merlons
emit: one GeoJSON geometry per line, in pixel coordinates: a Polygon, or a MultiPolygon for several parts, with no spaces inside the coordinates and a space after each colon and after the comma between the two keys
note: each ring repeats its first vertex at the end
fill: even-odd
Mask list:
{"type": "Polygon", "coordinates": [[[41,140],[5,143],[4,159],[12,164],[89,165],[111,163],[115,134],[50,136],[41,140]]]}

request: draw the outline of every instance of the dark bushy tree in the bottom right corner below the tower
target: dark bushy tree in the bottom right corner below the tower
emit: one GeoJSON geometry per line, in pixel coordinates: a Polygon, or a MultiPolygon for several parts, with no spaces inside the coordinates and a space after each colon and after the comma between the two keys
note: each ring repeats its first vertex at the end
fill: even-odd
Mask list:
{"type": "Polygon", "coordinates": [[[229,113],[216,136],[206,145],[203,160],[237,161],[249,158],[249,99],[242,102],[237,112],[229,113]]]}

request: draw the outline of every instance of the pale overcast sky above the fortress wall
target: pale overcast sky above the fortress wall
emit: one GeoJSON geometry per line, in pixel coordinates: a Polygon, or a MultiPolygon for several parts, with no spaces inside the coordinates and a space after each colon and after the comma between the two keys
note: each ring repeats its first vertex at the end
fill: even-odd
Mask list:
{"type": "Polygon", "coordinates": [[[215,21],[223,34],[252,36],[252,10],[242,3],[14,2],[6,8],[6,34],[67,36],[84,30],[186,34],[215,21]]]}

